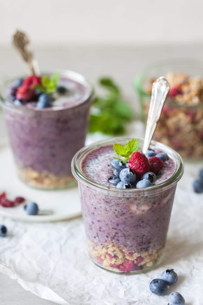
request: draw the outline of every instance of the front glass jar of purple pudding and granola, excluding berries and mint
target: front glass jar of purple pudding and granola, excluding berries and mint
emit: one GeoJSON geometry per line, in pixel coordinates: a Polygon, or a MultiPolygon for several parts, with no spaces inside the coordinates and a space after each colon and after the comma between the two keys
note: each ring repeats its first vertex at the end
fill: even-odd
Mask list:
{"type": "Polygon", "coordinates": [[[116,157],[113,143],[128,140],[115,138],[81,149],[72,160],[72,171],[78,180],[91,259],[111,271],[137,273],[151,269],[163,257],[183,163],[174,150],[152,142],[156,153],[169,156],[157,180],[149,188],[118,189],[108,181],[116,157]]]}

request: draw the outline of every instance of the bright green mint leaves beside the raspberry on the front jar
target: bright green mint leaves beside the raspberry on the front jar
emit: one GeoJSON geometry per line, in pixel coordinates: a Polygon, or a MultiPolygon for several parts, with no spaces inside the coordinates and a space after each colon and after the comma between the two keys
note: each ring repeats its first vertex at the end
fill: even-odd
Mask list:
{"type": "Polygon", "coordinates": [[[123,162],[127,162],[133,152],[137,152],[139,149],[139,142],[138,139],[130,140],[125,146],[121,144],[114,144],[114,151],[116,154],[120,157],[123,157],[123,159],[115,158],[118,160],[121,160],[123,162]]]}

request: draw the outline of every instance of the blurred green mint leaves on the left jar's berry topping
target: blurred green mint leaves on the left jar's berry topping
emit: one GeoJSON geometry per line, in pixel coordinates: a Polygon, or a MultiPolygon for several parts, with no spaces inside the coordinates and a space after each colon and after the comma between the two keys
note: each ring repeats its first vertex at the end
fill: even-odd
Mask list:
{"type": "Polygon", "coordinates": [[[42,85],[35,85],[34,88],[40,90],[41,92],[51,94],[56,91],[58,80],[59,80],[58,73],[52,74],[51,77],[47,77],[46,75],[43,75],[41,77],[42,85]]]}

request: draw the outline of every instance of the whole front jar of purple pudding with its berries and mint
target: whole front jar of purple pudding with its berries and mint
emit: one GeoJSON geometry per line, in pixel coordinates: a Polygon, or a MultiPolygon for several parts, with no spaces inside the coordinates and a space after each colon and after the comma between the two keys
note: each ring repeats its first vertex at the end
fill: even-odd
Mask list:
{"type": "Polygon", "coordinates": [[[121,162],[114,159],[119,156],[119,150],[112,143],[107,141],[83,149],[84,154],[78,160],[77,154],[74,157],[83,175],[81,179],[72,167],[79,182],[89,254],[94,263],[105,269],[142,272],[154,267],[163,257],[177,180],[182,171],[176,182],[172,177],[182,161],[156,144],[144,155],[138,147],[135,149],[134,142],[130,152],[126,149],[125,153],[120,146],[121,162]]]}

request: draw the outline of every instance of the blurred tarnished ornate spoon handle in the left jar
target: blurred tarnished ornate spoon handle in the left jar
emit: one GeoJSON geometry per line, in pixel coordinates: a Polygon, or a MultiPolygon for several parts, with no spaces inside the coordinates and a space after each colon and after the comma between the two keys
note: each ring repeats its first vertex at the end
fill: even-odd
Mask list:
{"type": "Polygon", "coordinates": [[[37,60],[33,56],[33,47],[27,35],[19,30],[13,35],[13,45],[20,53],[23,61],[26,63],[29,73],[40,74],[40,69],[37,60]]]}

